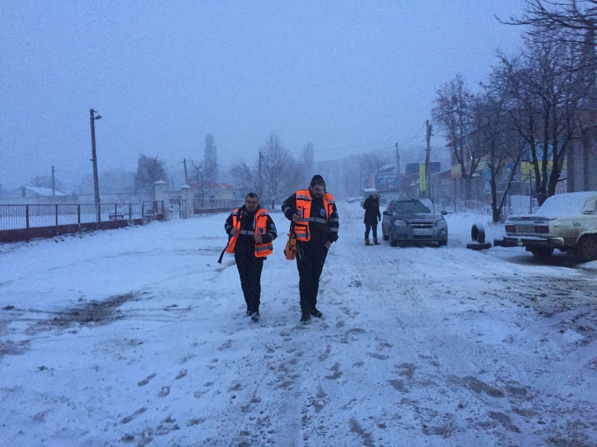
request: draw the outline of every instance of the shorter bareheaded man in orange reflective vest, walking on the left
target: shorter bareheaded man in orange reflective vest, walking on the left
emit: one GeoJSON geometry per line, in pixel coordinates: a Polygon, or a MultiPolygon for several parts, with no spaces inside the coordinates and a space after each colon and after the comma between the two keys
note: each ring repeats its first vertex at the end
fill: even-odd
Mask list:
{"type": "Polygon", "coordinates": [[[272,241],[278,236],[276,226],[267,214],[267,209],[259,205],[257,194],[248,193],[245,204],[232,211],[224,228],[229,235],[226,252],[234,253],[247,303],[247,316],[259,321],[261,270],[263,260],[273,252],[272,241]]]}

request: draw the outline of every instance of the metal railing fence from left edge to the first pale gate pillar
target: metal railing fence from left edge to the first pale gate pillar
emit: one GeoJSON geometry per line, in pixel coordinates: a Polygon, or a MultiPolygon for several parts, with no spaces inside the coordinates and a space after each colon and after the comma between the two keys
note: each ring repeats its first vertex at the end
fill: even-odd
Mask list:
{"type": "Polygon", "coordinates": [[[0,205],[0,230],[57,227],[158,215],[161,202],[141,204],[0,205]]]}

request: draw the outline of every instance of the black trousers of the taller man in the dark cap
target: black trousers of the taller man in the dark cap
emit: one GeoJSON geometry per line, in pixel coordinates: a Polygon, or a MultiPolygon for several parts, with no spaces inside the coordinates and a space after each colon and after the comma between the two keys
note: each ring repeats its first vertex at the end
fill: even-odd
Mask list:
{"type": "Polygon", "coordinates": [[[325,245],[313,245],[310,242],[299,242],[297,253],[298,292],[300,293],[300,310],[303,314],[312,312],[317,304],[319,292],[319,276],[324,269],[328,249],[325,245]]]}

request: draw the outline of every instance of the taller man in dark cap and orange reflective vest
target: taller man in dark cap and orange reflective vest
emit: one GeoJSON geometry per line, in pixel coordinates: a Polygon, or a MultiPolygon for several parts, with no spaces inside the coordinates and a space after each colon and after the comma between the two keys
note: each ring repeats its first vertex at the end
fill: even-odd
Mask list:
{"type": "Polygon", "coordinates": [[[312,316],[323,316],[315,307],[319,276],[330,245],[338,239],[338,211],[321,175],[313,176],[309,189],[300,189],[286,199],[282,211],[296,233],[300,320],[308,323],[312,316]]]}

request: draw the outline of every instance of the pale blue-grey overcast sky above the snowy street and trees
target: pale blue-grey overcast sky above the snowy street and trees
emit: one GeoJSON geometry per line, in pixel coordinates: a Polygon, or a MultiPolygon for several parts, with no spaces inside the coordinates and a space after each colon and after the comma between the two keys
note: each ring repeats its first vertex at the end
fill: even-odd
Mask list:
{"type": "Polygon", "coordinates": [[[518,53],[522,29],[494,14],[523,5],[5,0],[0,184],[91,174],[92,107],[100,172],[135,171],[140,153],[182,169],[207,133],[223,165],[252,164],[272,133],[295,155],[312,142],[316,161],[422,153],[436,90],[457,73],[474,89],[497,50],[518,53]]]}

